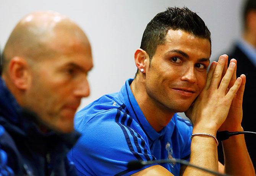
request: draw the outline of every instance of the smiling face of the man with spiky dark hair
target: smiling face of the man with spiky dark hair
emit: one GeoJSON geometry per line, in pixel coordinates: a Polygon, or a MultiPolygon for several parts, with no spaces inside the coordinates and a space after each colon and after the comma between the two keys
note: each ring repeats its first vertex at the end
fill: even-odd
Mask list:
{"type": "Polygon", "coordinates": [[[146,72],[146,92],[167,111],[184,112],[203,89],[211,44],[183,30],[169,30],[146,72]]]}

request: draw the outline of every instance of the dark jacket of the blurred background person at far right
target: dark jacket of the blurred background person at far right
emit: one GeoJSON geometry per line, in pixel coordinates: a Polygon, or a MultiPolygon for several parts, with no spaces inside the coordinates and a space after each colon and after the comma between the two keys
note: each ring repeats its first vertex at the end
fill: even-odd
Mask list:
{"type": "MultiPolygon", "coordinates": [[[[237,77],[241,74],[245,74],[246,76],[245,92],[243,94],[243,120],[241,125],[244,131],[256,132],[256,113],[254,111],[256,107],[256,67],[236,44],[228,53],[228,61],[233,58],[237,60],[237,77]]],[[[246,146],[254,168],[256,168],[255,140],[256,136],[245,135],[246,146]]],[[[223,161],[223,154],[220,154],[220,152],[219,159],[223,161]]]]}

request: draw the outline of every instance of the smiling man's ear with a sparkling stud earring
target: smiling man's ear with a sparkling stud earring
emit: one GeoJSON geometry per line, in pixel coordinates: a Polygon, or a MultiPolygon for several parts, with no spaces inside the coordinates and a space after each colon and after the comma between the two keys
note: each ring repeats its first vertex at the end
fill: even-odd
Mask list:
{"type": "Polygon", "coordinates": [[[145,73],[149,63],[149,55],[147,52],[141,48],[137,49],[134,53],[134,61],[139,71],[145,73]],[[141,69],[143,69],[143,71],[141,69]]]}

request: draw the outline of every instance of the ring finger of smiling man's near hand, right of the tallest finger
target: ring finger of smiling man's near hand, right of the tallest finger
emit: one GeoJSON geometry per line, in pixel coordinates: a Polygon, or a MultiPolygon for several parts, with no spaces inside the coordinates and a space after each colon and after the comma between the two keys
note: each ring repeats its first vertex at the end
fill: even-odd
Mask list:
{"type": "Polygon", "coordinates": [[[236,64],[234,62],[230,62],[227,72],[220,82],[220,86],[219,86],[220,91],[226,92],[228,85],[230,83],[230,80],[232,78],[232,75],[235,71],[235,67],[236,67],[236,64]]]}

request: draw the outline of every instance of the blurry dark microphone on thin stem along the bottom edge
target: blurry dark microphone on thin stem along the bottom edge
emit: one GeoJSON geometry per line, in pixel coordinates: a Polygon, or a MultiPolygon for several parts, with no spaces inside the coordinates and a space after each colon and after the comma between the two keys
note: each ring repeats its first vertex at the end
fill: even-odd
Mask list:
{"type": "Polygon", "coordinates": [[[214,174],[214,175],[229,176],[228,174],[222,174],[222,173],[219,173],[217,171],[209,170],[209,169],[191,164],[191,163],[187,162],[186,160],[174,159],[174,158],[164,159],[164,160],[153,160],[153,161],[134,160],[134,161],[128,162],[127,168],[128,168],[128,170],[138,170],[138,169],[143,168],[146,165],[159,164],[159,163],[181,163],[183,165],[191,166],[191,167],[197,168],[199,170],[206,171],[206,172],[214,174]]]}

